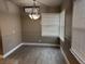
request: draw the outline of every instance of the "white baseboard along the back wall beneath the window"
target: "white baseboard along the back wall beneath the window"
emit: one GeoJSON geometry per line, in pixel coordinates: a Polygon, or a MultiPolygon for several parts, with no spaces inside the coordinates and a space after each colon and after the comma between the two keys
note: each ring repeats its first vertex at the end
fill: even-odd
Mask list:
{"type": "Polygon", "coordinates": [[[52,43],[37,43],[37,42],[23,42],[23,46],[60,47],[59,44],[52,44],[52,43]]]}

